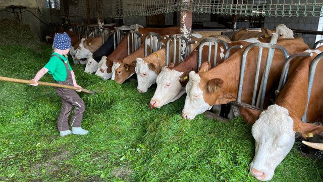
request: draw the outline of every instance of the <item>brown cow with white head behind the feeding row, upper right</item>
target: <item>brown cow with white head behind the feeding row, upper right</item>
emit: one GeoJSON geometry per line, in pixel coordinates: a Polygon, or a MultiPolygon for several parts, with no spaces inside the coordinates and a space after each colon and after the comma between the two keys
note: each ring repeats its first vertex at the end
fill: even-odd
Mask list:
{"type": "Polygon", "coordinates": [[[277,33],[278,38],[294,38],[294,33],[284,24],[279,24],[274,30],[268,30],[266,28],[261,28],[261,32],[258,31],[248,31],[245,27],[241,30],[235,32],[232,37],[232,41],[245,40],[252,37],[271,37],[273,33],[277,33]]]}

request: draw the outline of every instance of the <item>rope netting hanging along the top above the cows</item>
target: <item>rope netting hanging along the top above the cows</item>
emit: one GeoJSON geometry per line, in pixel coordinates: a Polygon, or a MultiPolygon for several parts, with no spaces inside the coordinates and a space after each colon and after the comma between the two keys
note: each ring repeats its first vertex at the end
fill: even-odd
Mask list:
{"type": "MultiPolygon", "coordinates": [[[[70,5],[70,12],[75,9],[73,16],[86,17],[86,0],[77,2],[73,8],[70,5]]],[[[116,19],[181,10],[245,16],[323,17],[323,0],[102,0],[101,6],[104,18],[116,19]]]]}

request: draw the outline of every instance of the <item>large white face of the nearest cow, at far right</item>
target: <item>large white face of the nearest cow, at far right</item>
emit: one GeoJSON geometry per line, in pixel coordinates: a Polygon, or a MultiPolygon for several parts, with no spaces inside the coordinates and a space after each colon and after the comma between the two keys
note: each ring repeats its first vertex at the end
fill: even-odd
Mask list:
{"type": "Polygon", "coordinates": [[[252,126],[255,156],[250,172],[258,180],[273,178],[276,167],[292,149],[295,138],[293,119],[288,110],[272,105],[263,111],[252,126]]]}

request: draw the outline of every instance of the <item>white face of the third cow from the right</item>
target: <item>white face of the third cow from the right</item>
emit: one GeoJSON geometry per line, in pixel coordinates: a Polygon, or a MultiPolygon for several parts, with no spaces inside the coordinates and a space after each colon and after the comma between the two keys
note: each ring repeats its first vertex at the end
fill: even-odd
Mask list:
{"type": "Polygon", "coordinates": [[[164,67],[157,76],[157,88],[150,100],[150,104],[156,108],[160,108],[170,102],[176,101],[185,94],[185,88],[180,83],[180,76],[182,74],[182,72],[164,67]]]}

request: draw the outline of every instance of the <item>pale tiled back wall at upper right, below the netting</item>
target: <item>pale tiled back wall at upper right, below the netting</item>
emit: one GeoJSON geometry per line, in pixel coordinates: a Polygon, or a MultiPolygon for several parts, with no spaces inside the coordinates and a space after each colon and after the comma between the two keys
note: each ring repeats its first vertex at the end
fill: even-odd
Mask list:
{"type": "MultiPolygon", "coordinates": [[[[302,29],[302,30],[319,30],[319,17],[265,17],[264,27],[268,29],[274,29],[279,24],[285,24],[289,28],[302,29]]],[[[320,35],[296,35],[298,37],[303,37],[305,43],[311,48],[315,43],[316,37],[320,35]]]]}

